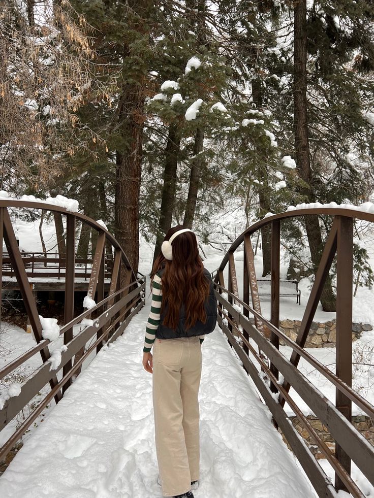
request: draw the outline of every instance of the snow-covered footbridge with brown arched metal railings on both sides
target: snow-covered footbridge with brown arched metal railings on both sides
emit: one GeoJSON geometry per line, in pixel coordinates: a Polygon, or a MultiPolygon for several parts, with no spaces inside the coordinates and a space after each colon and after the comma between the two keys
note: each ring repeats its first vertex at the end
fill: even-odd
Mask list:
{"type": "MultiPolygon", "coordinates": [[[[11,206],[38,207],[17,203],[12,201],[11,206]]],[[[12,426],[17,413],[48,383],[50,390],[39,396],[39,404],[35,403],[34,410],[13,434],[10,432],[0,457],[6,456],[53,398],[57,406],[45,410],[43,423],[27,438],[0,478],[1,496],[140,498],[161,495],[156,482],[151,376],[144,372],[141,364],[148,313],[148,305],[144,307],[144,277],[134,275],[126,255],[101,225],[64,208],[43,205],[43,209],[57,210],[67,218],[65,325],[59,329],[53,320],[38,315],[8,207],[9,203],[0,201],[2,236],[37,345],[6,364],[0,370],[0,378],[10,375],[39,353],[42,364],[21,385],[11,385],[2,396],[0,434],[12,426]],[[87,309],[74,317],[75,244],[72,234],[77,219],[98,230],[98,245],[85,300],[87,309]],[[108,240],[113,248],[113,265],[109,291],[105,292],[103,261],[108,240]],[[98,304],[93,301],[95,296],[98,304]],[[75,380],[70,385],[72,377],[75,380]]],[[[374,485],[373,447],[351,424],[352,403],[374,418],[374,407],[351,387],[354,218],[374,221],[371,213],[341,207],[315,207],[313,210],[303,207],[269,216],[238,237],[215,273],[220,316],[216,330],[203,344],[199,394],[201,485],[196,498],[344,495],[339,489],[348,489],[352,496],[362,497],[365,495],[363,479],[374,485]],[[279,329],[279,228],[283,219],[309,214],[331,215],[334,220],[299,336],[292,341],[279,329]],[[270,224],[272,233],[270,320],[261,314],[250,239],[264,224],[270,224]],[[239,247],[244,254],[240,272],[235,268],[234,259],[239,247]],[[336,374],[304,349],[335,252],[336,374]],[[242,283],[240,289],[238,282],[242,283]],[[250,316],[254,316],[254,324],[249,320],[250,316]],[[279,351],[279,338],[292,348],[290,358],[279,351]],[[335,405],[297,368],[300,357],[336,387],[335,405]],[[279,373],[284,379],[279,380],[279,373]],[[310,425],[295,401],[294,391],[327,427],[336,442],[335,451],[331,451],[310,425]],[[328,478],[291,423],[284,409],[285,402],[298,415],[331,464],[335,483],[328,478]],[[283,431],[294,454],[283,442],[276,426],[283,431]],[[351,460],[361,472],[359,481],[351,477],[351,460]]]]}

